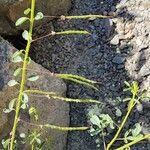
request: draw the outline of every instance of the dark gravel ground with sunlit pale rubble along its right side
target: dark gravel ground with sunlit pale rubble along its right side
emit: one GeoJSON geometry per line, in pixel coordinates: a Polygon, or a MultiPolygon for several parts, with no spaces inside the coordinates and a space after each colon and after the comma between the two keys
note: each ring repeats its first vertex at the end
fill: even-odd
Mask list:
{"type": "MultiPolygon", "coordinates": [[[[102,101],[108,106],[106,111],[117,120],[113,107],[118,105],[118,99],[125,97],[122,92],[124,81],[137,79],[142,88],[146,87],[146,83],[150,83],[149,74],[146,77],[139,75],[139,71],[146,65],[150,56],[150,9],[148,6],[150,6],[148,0],[121,2],[119,0],[74,0],[70,15],[116,14],[117,18],[48,21],[42,28],[36,29],[36,36],[44,35],[53,29],[55,31],[84,29],[92,34],[90,36],[60,36],[38,41],[32,48],[32,58],[52,72],[78,74],[98,81],[99,91],[67,82],[67,97],[102,101]],[[143,9],[143,7],[146,8],[143,9]]],[[[90,107],[92,106],[70,104],[70,126],[87,126],[86,114],[90,107]]],[[[125,106],[121,104],[120,107],[125,114],[125,106]]],[[[136,113],[131,115],[125,129],[141,122],[145,129],[150,130],[148,109],[143,108],[143,110],[141,113],[135,109],[136,113]]],[[[113,134],[109,139],[112,136],[113,134]]],[[[95,138],[90,137],[88,132],[70,132],[66,149],[98,150],[95,138]]],[[[137,144],[132,149],[148,150],[149,144],[146,142],[137,144]]]]}

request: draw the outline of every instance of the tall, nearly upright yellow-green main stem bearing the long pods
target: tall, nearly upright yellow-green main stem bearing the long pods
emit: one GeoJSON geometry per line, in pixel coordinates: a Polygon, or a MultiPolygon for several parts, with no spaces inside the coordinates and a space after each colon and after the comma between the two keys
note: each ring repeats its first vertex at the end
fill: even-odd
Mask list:
{"type": "Polygon", "coordinates": [[[20,112],[20,106],[21,106],[21,100],[22,100],[22,93],[24,91],[25,87],[25,77],[26,77],[26,68],[27,68],[27,59],[31,47],[31,37],[32,37],[32,32],[33,32],[33,25],[34,25],[34,10],[35,10],[35,1],[32,0],[31,2],[31,14],[30,14],[30,29],[29,29],[29,38],[26,46],[26,51],[25,51],[25,57],[24,57],[24,62],[23,62],[23,69],[22,69],[22,78],[21,78],[21,85],[20,85],[20,90],[19,90],[19,96],[16,104],[16,113],[15,113],[15,119],[13,123],[13,129],[12,129],[12,137],[11,137],[11,142],[10,142],[10,150],[13,150],[14,148],[14,140],[15,140],[15,135],[16,135],[16,129],[18,125],[18,118],[19,118],[19,112],[20,112]]]}

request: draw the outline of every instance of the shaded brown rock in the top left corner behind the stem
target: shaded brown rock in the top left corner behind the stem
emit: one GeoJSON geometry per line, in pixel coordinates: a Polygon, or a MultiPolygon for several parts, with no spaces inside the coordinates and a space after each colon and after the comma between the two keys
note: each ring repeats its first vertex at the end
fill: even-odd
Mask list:
{"type": "MultiPolygon", "coordinates": [[[[14,23],[18,18],[24,16],[23,12],[30,7],[30,3],[29,0],[1,0],[0,17],[4,17],[4,22],[0,19],[0,25],[2,24],[0,34],[14,34],[14,23]],[[5,26],[11,26],[12,30],[5,26]]],[[[42,12],[44,15],[64,15],[70,9],[70,6],[70,0],[37,0],[36,12],[42,12]]],[[[17,33],[17,29],[15,33],[17,33]]]]}

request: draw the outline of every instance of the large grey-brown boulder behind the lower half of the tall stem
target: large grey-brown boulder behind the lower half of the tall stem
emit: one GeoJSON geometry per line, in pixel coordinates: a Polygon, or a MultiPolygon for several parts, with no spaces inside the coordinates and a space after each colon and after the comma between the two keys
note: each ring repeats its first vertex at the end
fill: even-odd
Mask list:
{"type": "MultiPolygon", "coordinates": [[[[13,72],[17,68],[17,65],[11,63],[10,58],[14,53],[15,48],[11,46],[7,41],[0,38],[0,139],[8,135],[11,131],[12,116],[7,116],[3,113],[3,109],[8,106],[10,100],[15,98],[18,94],[19,86],[8,87],[7,83],[13,79],[13,72]]],[[[51,76],[51,73],[44,69],[42,66],[31,62],[29,66],[27,76],[33,74],[34,70],[40,76],[38,82],[27,82],[26,89],[39,89],[43,91],[53,91],[60,96],[65,96],[66,85],[60,79],[51,76]],[[31,71],[32,70],[32,71],[31,71]]],[[[35,72],[34,72],[35,73],[35,72]]],[[[39,120],[36,124],[53,124],[58,126],[69,125],[69,105],[59,100],[47,99],[46,97],[29,96],[29,102],[31,106],[36,107],[39,114],[39,120]]],[[[21,118],[25,118],[25,121],[35,123],[26,114],[22,114],[21,118]]],[[[19,123],[18,132],[27,132],[27,130],[33,129],[33,126],[29,126],[26,123],[19,123]],[[25,128],[24,128],[25,127],[25,128]]],[[[36,127],[37,129],[37,127],[36,127]]],[[[62,150],[66,145],[66,132],[58,132],[50,129],[44,129],[42,132],[43,139],[51,139],[47,143],[46,149],[51,147],[53,150],[62,150]]]]}

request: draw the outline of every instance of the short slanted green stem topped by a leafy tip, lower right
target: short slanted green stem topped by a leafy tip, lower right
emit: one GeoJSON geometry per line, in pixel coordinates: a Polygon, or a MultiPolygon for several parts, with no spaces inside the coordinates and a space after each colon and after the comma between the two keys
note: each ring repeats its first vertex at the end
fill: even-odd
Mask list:
{"type": "Polygon", "coordinates": [[[131,99],[130,102],[129,102],[129,105],[128,105],[128,112],[127,112],[125,118],[123,119],[123,121],[122,121],[122,123],[121,123],[119,129],[117,130],[117,132],[116,132],[114,138],[113,138],[113,139],[110,141],[110,143],[107,145],[106,150],[110,150],[110,147],[111,147],[111,146],[113,145],[113,143],[117,140],[117,138],[118,138],[118,136],[119,136],[119,134],[120,134],[122,128],[124,127],[125,123],[127,122],[127,119],[128,119],[128,117],[129,117],[129,115],[130,115],[130,113],[131,113],[131,111],[132,111],[132,108],[134,107],[134,101],[135,101],[135,94],[133,94],[132,99],[131,99]]]}

